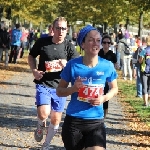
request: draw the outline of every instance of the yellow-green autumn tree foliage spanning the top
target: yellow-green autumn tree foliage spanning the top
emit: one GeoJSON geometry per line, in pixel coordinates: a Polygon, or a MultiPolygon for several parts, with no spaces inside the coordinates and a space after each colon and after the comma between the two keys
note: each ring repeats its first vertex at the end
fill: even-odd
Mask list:
{"type": "MultiPolygon", "coordinates": [[[[66,17],[70,25],[81,20],[83,25],[101,24],[105,29],[108,25],[116,27],[119,22],[128,27],[142,18],[144,25],[150,24],[149,0],[5,0],[0,1],[0,8],[0,14],[13,22],[27,21],[34,25],[51,23],[57,16],[66,17]]],[[[143,28],[142,24],[139,28],[143,28]]]]}

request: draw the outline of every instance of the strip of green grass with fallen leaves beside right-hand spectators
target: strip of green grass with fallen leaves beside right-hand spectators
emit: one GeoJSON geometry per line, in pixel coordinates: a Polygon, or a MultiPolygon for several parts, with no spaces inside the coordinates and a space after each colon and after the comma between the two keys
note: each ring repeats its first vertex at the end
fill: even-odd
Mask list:
{"type": "Polygon", "coordinates": [[[145,108],[143,99],[136,98],[136,85],[135,81],[124,81],[118,79],[118,86],[121,90],[121,95],[124,97],[125,102],[129,103],[136,113],[140,116],[141,120],[150,126],[150,107],[145,108]]]}

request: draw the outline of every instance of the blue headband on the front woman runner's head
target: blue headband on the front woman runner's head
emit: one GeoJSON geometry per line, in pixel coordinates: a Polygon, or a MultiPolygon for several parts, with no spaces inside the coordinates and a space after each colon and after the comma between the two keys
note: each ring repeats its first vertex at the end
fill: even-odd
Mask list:
{"type": "Polygon", "coordinates": [[[91,30],[97,30],[96,28],[94,28],[93,26],[91,25],[87,25],[85,26],[84,28],[82,28],[79,32],[79,35],[78,35],[78,38],[77,38],[77,42],[79,44],[79,46],[81,47],[81,44],[82,44],[82,41],[84,39],[84,37],[86,36],[86,34],[88,32],[90,32],[91,30]]]}

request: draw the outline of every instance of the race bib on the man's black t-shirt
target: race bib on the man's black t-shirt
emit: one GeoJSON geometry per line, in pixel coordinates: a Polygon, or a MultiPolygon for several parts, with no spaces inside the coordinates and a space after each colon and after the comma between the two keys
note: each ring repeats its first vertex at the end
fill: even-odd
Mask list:
{"type": "Polygon", "coordinates": [[[59,60],[45,61],[46,72],[58,72],[62,70],[59,60]]]}

